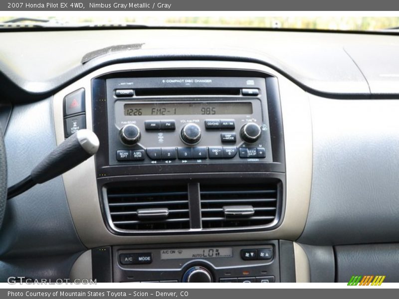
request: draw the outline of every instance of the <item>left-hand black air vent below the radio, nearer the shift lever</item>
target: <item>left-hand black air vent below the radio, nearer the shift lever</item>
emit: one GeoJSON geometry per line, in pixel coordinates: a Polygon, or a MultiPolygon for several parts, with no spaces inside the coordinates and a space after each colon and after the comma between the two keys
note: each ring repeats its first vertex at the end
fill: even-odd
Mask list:
{"type": "Polygon", "coordinates": [[[109,215],[121,230],[190,228],[187,185],[107,189],[109,215]]]}

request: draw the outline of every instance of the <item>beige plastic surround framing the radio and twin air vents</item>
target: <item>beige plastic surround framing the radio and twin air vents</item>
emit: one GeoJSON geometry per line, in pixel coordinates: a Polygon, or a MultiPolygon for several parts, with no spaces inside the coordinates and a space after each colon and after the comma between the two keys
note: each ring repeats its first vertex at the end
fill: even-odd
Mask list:
{"type": "MultiPolygon", "coordinates": [[[[62,175],[66,196],[76,231],[88,248],[105,245],[149,244],[231,240],[296,240],[302,233],[309,209],[312,178],[312,125],[306,92],[266,66],[228,61],[163,61],[115,64],[103,67],[75,81],[53,97],[54,126],[57,144],[64,140],[62,103],[65,95],[84,88],[86,123],[92,130],[91,79],[124,70],[155,69],[243,69],[271,74],[278,78],[284,127],[286,162],[286,201],[281,225],[271,231],[221,234],[120,236],[111,233],[103,220],[97,191],[94,157],[62,175]]],[[[104,99],[105,100],[105,99],[104,99]]]]}

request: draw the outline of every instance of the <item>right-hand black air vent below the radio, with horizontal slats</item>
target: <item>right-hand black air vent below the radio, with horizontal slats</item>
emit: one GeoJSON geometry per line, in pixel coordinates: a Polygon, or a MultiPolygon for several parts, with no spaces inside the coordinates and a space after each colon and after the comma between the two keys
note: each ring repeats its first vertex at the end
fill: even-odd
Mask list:
{"type": "Polygon", "coordinates": [[[202,229],[274,223],[278,184],[200,185],[202,229]]]}

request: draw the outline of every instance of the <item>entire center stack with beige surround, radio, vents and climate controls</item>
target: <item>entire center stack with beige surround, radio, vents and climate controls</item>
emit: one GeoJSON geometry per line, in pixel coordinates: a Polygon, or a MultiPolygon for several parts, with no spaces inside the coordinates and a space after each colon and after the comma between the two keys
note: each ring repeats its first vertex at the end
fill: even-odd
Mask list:
{"type": "Polygon", "coordinates": [[[294,280],[283,279],[293,273],[293,245],[282,240],[300,234],[307,213],[308,168],[291,167],[286,184],[286,157],[290,165],[311,158],[306,111],[295,106],[302,96],[266,67],[186,61],[104,67],[55,95],[55,118],[64,111],[57,142],[80,125],[100,140],[94,159],[63,175],[93,278],[294,280]],[[297,119],[285,123],[289,152],[281,90],[292,99],[288,120],[297,119]]]}

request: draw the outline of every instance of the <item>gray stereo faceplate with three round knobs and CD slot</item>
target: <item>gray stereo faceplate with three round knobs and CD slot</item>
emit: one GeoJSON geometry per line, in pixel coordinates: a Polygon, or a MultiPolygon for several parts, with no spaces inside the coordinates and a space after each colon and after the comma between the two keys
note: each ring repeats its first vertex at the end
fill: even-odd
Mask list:
{"type": "Polygon", "coordinates": [[[114,78],[106,85],[110,165],[273,161],[264,78],[114,78]],[[260,130],[254,140],[245,136],[249,123],[260,130]],[[129,145],[121,130],[132,125],[140,136],[129,145]]]}

